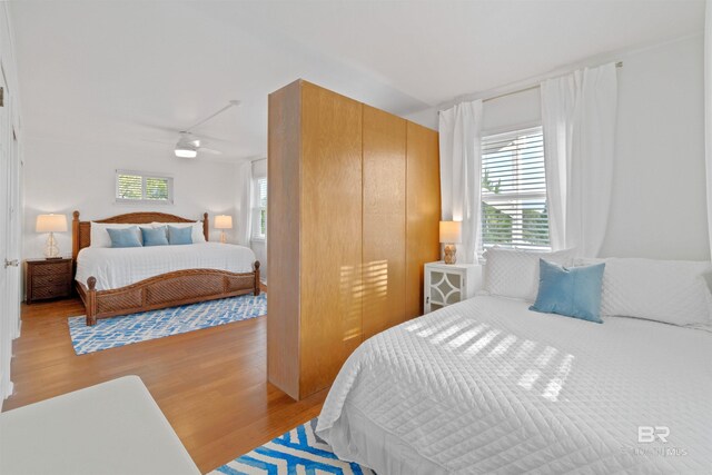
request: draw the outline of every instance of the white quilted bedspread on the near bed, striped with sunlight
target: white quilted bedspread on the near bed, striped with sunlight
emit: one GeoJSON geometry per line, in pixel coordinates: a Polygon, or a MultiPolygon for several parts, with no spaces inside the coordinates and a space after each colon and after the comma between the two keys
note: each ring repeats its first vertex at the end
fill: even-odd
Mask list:
{"type": "Polygon", "coordinates": [[[528,305],[476,297],[368,339],[317,434],[382,475],[712,473],[712,334],[528,305]]]}

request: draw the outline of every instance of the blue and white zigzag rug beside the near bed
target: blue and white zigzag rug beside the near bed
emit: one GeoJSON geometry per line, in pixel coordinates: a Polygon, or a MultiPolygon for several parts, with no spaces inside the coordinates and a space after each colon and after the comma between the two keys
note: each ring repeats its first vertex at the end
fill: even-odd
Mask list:
{"type": "Polygon", "coordinates": [[[340,461],[332,447],[314,433],[317,419],[255,448],[216,468],[209,475],[375,475],[368,467],[340,461]]]}

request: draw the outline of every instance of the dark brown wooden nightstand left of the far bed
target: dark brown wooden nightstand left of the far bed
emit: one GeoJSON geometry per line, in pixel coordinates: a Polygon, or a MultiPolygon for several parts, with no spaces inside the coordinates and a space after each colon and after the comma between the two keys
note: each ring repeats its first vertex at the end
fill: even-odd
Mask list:
{"type": "Polygon", "coordinates": [[[27,303],[71,296],[72,259],[27,259],[27,303]]]}

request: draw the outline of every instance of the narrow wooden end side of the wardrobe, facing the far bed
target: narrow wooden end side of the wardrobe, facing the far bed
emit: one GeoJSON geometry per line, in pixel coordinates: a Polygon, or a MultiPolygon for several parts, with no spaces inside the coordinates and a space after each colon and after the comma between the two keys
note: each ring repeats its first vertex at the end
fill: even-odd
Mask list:
{"type": "Polygon", "coordinates": [[[267,150],[268,380],[299,399],[301,81],[269,95],[267,150]]]}

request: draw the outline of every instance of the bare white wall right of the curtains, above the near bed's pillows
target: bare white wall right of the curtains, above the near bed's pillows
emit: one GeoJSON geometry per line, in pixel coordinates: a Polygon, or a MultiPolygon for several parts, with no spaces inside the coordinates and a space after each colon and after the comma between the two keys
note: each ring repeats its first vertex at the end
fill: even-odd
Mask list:
{"type": "Polygon", "coordinates": [[[709,259],[702,36],[621,59],[602,255],[709,259]]]}

